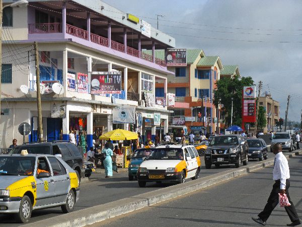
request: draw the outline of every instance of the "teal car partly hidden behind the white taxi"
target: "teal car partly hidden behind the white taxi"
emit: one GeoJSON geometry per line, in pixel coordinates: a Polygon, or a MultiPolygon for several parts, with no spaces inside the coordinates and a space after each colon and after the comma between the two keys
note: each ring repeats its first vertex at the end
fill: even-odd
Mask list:
{"type": "Polygon", "coordinates": [[[130,164],[128,165],[128,178],[129,181],[137,179],[137,169],[143,160],[149,155],[150,148],[139,148],[133,152],[130,158],[130,164]]]}

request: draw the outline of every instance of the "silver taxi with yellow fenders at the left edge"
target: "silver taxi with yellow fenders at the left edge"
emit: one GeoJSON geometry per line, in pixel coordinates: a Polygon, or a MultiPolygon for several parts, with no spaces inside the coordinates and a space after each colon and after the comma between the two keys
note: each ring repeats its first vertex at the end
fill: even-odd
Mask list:
{"type": "Polygon", "coordinates": [[[77,173],[62,158],[26,150],[0,155],[0,214],[26,223],[36,209],[60,206],[71,212],[79,196],[77,173]]]}

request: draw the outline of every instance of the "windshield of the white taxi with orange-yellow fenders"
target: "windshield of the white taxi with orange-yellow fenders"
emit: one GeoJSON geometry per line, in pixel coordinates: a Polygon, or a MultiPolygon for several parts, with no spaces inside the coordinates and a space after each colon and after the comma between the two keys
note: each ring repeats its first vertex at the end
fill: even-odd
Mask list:
{"type": "Polygon", "coordinates": [[[151,150],[147,160],[183,160],[183,150],[173,148],[158,148],[151,150]]]}

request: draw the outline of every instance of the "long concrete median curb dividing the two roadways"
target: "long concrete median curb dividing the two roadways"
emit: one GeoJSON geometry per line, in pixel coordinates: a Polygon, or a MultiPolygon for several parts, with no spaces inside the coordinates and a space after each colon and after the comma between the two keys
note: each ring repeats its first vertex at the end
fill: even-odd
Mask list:
{"type": "MultiPolygon", "coordinates": [[[[285,154],[285,157],[291,158],[302,154],[302,151],[293,154],[285,154]]],[[[152,192],[120,199],[106,204],[101,204],[82,210],[73,211],[68,214],[62,214],[56,217],[25,224],[24,226],[85,226],[108,218],[126,214],[144,207],[154,205],[169,199],[183,196],[185,194],[221,183],[235,177],[251,173],[257,169],[272,165],[274,159],[264,160],[262,163],[256,163],[249,166],[242,166],[237,169],[230,169],[221,173],[213,174],[195,181],[190,181],[180,185],[173,185],[167,188],[158,189],[152,192]],[[97,211],[97,212],[96,212],[97,211]]]]}

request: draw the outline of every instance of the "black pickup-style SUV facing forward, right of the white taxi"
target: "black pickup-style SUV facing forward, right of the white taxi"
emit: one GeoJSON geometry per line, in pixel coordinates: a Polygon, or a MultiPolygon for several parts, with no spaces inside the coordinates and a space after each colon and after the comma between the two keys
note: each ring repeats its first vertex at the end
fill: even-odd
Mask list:
{"type": "Polygon", "coordinates": [[[238,168],[241,163],[248,164],[249,146],[241,135],[215,136],[209,143],[204,154],[206,168],[221,164],[235,164],[238,168]]]}

